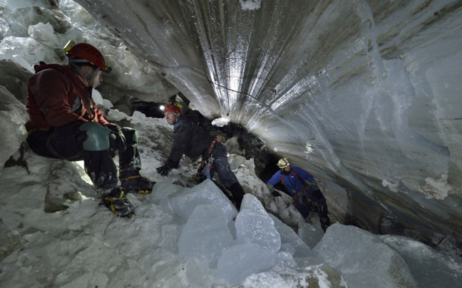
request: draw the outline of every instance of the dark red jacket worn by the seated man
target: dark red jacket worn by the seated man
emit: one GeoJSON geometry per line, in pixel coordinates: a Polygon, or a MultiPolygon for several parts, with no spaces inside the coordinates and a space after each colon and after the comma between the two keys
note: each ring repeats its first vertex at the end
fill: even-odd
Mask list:
{"type": "Polygon", "coordinates": [[[69,66],[35,65],[29,79],[26,129],[61,127],[68,123],[95,121],[109,124],[87,88],[69,66]]]}

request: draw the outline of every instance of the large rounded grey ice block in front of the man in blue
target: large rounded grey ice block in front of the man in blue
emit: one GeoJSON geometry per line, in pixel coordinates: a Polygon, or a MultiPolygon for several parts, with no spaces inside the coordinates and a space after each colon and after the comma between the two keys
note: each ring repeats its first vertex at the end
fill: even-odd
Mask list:
{"type": "Polygon", "coordinates": [[[334,224],[313,251],[351,287],[418,287],[400,254],[359,228],[334,224]]]}

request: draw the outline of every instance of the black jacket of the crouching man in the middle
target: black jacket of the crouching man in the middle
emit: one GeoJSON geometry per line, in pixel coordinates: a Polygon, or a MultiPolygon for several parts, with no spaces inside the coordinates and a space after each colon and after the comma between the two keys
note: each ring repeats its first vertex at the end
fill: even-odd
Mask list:
{"type": "Polygon", "coordinates": [[[183,155],[198,158],[207,153],[213,136],[202,128],[195,113],[180,115],[173,125],[173,145],[166,164],[178,168],[183,155]]]}

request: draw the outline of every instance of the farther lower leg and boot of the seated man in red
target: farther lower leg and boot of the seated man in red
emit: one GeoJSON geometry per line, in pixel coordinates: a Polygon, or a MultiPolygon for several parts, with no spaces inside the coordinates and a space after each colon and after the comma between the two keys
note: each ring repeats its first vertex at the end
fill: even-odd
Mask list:
{"type": "Polygon", "coordinates": [[[152,192],[155,182],[140,175],[141,159],[138,152],[138,134],[132,128],[122,128],[127,149],[119,153],[120,182],[128,192],[148,194],[152,192]]]}

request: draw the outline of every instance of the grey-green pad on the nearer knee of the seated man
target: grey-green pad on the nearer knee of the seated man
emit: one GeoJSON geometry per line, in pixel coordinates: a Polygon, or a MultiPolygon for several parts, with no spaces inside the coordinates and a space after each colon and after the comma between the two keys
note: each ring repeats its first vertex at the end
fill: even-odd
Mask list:
{"type": "Polygon", "coordinates": [[[96,122],[86,122],[80,127],[87,134],[83,141],[83,150],[86,151],[103,151],[109,149],[109,135],[111,130],[96,122]]]}

